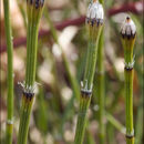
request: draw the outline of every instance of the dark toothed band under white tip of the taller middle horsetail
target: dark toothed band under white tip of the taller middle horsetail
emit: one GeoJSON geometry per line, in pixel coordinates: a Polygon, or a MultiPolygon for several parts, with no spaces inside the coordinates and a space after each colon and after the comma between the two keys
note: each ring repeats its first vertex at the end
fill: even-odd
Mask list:
{"type": "Polygon", "coordinates": [[[85,23],[91,23],[91,25],[93,27],[95,23],[99,27],[100,24],[103,24],[103,19],[90,19],[90,18],[85,18],[85,23]]]}

